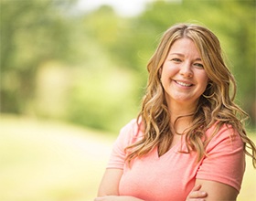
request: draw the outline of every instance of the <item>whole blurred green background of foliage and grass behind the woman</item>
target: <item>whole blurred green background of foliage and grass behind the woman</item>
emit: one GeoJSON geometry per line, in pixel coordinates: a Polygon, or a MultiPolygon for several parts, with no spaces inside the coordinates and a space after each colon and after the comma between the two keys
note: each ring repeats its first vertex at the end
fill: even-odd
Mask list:
{"type": "MultiPolygon", "coordinates": [[[[134,16],[81,2],[0,1],[1,200],[95,196],[112,141],[139,111],[147,61],[178,22],[219,37],[255,142],[255,0],[145,1],[134,16]]],[[[255,200],[247,166],[240,200],[255,200]]]]}

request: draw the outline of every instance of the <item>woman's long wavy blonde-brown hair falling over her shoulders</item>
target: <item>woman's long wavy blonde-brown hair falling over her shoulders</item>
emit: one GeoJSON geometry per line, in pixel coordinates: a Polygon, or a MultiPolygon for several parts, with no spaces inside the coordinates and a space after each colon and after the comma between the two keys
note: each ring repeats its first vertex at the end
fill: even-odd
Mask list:
{"type": "MultiPolygon", "coordinates": [[[[186,130],[185,153],[196,151],[199,161],[206,154],[205,149],[210,141],[206,136],[208,128],[216,124],[214,133],[217,133],[223,124],[227,124],[240,134],[244,152],[252,157],[252,164],[256,167],[256,147],[243,126],[248,115],[234,102],[236,82],[223,60],[219,39],[208,28],[193,24],[178,24],[167,29],[148,62],[149,77],[142,109],[137,117],[144,138],[126,148],[126,160],[130,163],[135,157],[152,151],[155,146],[158,147],[158,154],[163,155],[169,150],[174,133],[177,133],[175,125],[174,129],[170,126],[170,112],[160,80],[160,70],[174,42],[183,37],[194,41],[209,79],[208,87],[197,103],[197,110],[188,114],[192,116],[193,122],[186,130]],[[251,149],[251,153],[246,147],[251,149]]],[[[178,117],[176,122],[183,117],[178,117]]]]}

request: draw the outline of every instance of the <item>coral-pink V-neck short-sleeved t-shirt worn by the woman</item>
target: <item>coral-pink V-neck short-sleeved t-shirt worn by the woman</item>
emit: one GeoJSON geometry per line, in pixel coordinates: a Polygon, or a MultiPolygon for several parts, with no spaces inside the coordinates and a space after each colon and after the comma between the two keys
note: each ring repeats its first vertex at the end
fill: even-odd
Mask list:
{"type": "MultiPolygon", "coordinates": [[[[146,201],[186,200],[196,179],[205,179],[230,185],[240,191],[245,170],[243,143],[237,132],[223,126],[206,148],[208,156],[197,163],[197,153],[180,153],[187,150],[183,141],[167,153],[158,156],[157,147],[141,158],[135,158],[129,167],[125,163],[127,145],[143,136],[137,132],[135,120],[121,130],[113,145],[107,168],[123,169],[119,185],[120,196],[135,196],[146,201]]],[[[208,136],[214,131],[209,128],[208,136]]]]}

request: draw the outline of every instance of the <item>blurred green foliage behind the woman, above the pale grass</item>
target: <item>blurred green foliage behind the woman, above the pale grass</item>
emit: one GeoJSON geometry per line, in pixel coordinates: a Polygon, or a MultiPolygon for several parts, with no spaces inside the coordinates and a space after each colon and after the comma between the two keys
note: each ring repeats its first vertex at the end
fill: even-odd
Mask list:
{"type": "Polygon", "coordinates": [[[155,1],[133,17],[107,5],[91,13],[75,5],[0,2],[1,112],[117,132],[136,116],[159,37],[177,22],[195,22],[219,37],[238,102],[256,122],[255,1],[155,1]]]}

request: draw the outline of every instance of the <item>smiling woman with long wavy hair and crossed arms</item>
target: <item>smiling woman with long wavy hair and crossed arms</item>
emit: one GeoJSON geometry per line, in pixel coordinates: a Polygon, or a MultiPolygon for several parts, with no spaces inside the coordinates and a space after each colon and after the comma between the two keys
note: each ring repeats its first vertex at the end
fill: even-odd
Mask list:
{"type": "Polygon", "coordinates": [[[203,26],[172,26],[147,69],[142,110],[120,132],[95,200],[236,200],[244,153],[255,167],[256,147],[219,39],[203,26]]]}

